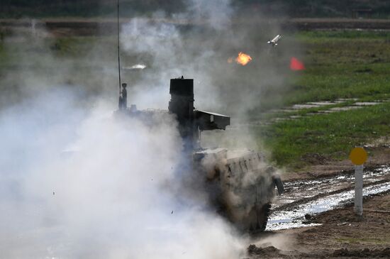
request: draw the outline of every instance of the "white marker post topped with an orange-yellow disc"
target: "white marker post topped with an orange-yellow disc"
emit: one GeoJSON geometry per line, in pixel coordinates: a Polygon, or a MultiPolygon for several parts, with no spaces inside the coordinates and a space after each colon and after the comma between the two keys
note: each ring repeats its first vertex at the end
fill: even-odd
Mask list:
{"type": "Polygon", "coordinates": [[[355,214],[363,214],[363,169],[367,160],[367,152],[362,147],[351,150],[350,160],[355,165],[355,214]]]}

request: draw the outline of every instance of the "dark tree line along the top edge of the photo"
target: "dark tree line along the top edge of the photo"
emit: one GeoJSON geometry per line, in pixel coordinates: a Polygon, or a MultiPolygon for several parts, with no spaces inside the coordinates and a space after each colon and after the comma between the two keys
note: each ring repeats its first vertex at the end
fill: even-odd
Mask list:
{"type": "MultiPolygon", "coordinates": [[[[1,0],[0,18],[114,16],[117,0],[1,0]]],[[[210,0],[212,1],[212,0],[210,0]]],[[[120,0],[121,16],[155,11],[186,11],[189,0],[120,0]]],[[[259,10],[294,17],[348,17],[353,9],[372,9],[373,17],[390,18],[386,0],[231,0],[235,9],[259,10]]]]}

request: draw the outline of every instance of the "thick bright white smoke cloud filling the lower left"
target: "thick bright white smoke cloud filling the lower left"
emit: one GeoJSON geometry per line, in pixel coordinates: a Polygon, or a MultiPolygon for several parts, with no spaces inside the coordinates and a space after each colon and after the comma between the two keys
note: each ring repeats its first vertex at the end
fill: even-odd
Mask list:
{"type": "Polygon", "coordinates": [[[176,197],[188,172],[170,116],[145,126],[75,100],[56,91],[0,114],[4,258],[238,258],[223,219],[176,197]]]}

